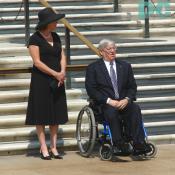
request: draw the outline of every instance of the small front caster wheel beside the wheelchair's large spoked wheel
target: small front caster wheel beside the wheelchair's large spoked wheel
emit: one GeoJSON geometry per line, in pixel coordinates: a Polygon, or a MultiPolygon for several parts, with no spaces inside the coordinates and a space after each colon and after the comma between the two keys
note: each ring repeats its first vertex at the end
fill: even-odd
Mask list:
{"type": "Polygon", "coordinates": [[[99,154],[101,160],[111,160],[113,155],[111,145],[108,143],[102,144],[99,149],[99,154]]]}

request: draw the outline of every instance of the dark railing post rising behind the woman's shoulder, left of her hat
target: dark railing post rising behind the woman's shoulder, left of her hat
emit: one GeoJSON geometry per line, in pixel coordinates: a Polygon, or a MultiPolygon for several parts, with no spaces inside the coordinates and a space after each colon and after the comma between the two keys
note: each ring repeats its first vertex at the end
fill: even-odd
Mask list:
{"type": "Polygon", "coordinates": [[[30,23],[29,23],[29,0],[24,2],[24,15],[25,15],[25,44],[27,45],[30,37],[30,23]]]}

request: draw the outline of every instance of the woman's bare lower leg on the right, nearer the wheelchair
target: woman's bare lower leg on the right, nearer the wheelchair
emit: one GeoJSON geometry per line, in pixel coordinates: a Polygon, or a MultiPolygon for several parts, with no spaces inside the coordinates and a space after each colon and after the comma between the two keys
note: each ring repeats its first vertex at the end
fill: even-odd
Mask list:
{"type": "Polygon", "coordinates": [[[54,155],[58,154],[57,151],[57,133],[58,125],[50,125],[50,149],[54,155]]]}

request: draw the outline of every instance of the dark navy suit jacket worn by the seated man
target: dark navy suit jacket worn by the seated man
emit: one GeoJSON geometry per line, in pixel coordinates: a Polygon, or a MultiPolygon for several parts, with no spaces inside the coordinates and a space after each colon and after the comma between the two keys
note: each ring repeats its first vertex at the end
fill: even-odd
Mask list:
{"type": "MultiPolygon", "coordinates": [[[[131,65],[125,61],[115,61],[119,99],[129,97],[131,101],[136,100],[137,85],[131,65]]],[[[115,99],[112,82],[102,58],[87,67],[85,87],[88,96],[98,104],[106,104],[108,97],[115,99]]]]}

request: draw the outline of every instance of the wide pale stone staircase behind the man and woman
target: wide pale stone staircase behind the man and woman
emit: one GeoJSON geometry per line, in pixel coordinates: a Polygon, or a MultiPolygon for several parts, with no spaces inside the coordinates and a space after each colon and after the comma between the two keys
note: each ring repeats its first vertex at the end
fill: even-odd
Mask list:
{"type": "MultiPolygon", "coordinates": [[[[112,0],[50,0],[55,9],[95,45],[104,37],[117,42],[118,59],[132,64],[138,84],[138,100],[150,140],[175,141],[175,17],[151,16],[151,38],[145,39],[144,21],[138,18],[138,0],[120,1],[113,13],[112,0]]],[[[0,68],[29,67],[32,60],[24,46],[21,1],[0,1],[0,68]]],[[[171,0],[171,13],[175,0],[171,0]]],[[[43,8],[30,0],[31,33],[37,12],[43,8]]],[[[64,27],[58,33],[64,45],[64,27]]],[[[71,33],[71,64],[88,64],[98,59],[71,33]]],[[[67,89],[69,123],[60,126],[58,145],[75,150],[75,123],[87,104],[84,72],[71,72],[72,89],[67,89]]],[[[39,148],[34,127],[24,125],[30,74],[0,75],[0,155],[26,153],[39,148]]],[[[48,128],[46,129],[48,137],[48,128]]],[[[48,137],[49,138],[49,137],[48,137]]]]}

